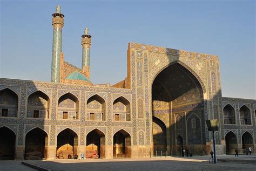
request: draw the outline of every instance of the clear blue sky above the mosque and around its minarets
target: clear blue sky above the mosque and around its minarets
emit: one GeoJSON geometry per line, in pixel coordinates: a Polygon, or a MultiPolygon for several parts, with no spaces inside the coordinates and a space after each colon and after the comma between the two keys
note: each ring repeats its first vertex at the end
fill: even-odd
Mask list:
{"type": "Polygon", "coordinates": [[[129,42],[218,55],[224,97],[256,99],[255,1],[1,1],[0,77],[50,81],[52,13],[65,15],[65,61],[92,35],[91,80],[126,77],[129,42]]]}

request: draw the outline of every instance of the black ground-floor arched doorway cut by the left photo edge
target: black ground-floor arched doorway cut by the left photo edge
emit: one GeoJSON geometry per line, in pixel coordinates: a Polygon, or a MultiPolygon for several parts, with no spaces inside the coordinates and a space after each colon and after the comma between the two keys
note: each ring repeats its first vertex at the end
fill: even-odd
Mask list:
{"type": "Polygon", "coordinates": [[[15,159],[15,133],[7,128],[0,128],[0,160],[14,160],[15,159]]]}

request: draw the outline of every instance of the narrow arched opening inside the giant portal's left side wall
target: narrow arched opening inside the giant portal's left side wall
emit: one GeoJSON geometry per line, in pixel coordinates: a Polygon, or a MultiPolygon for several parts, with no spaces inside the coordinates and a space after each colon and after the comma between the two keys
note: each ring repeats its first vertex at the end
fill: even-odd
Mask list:
{"type": "Polygon", "coordinates": [[[153,145],[154,155],[166,153],[166,126],[163,121],[153,117],[153,145]]]}

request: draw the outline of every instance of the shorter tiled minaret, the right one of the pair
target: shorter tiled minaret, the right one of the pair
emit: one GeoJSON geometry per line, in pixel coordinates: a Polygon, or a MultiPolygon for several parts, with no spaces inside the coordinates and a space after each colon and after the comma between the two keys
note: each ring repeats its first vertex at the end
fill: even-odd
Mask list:
{"type": "Polygon", "coordinates": [[[90,46],[91,46],[91,35],[89,35],[89,29],[84,29],[84,35],[82,35],[82,46],[83,46],[83,56],[82,56],[82,70],[90,79],[90,46]]]}

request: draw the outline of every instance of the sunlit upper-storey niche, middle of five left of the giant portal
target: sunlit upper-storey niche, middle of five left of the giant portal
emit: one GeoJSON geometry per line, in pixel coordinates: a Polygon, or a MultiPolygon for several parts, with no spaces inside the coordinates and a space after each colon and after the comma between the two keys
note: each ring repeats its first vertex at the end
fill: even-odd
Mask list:
{"type": "Polygon", "coordinates": [[[58,119],[78,119],[79,102],[75,95],[66,93],[58,101],[58,119]]]}

